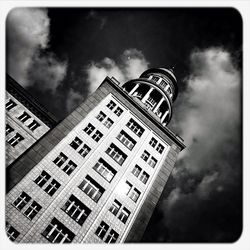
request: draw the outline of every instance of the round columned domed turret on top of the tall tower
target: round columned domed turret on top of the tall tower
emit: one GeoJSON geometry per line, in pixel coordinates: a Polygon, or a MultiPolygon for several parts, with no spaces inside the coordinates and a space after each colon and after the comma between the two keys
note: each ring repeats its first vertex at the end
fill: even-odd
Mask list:
{"type": "Polygon", "coordinates": [[[148,69],[139,78],[126,82],[123,88],[163,126],[170,122],[172,103],[178,94],[173,69],[148,69]]]}

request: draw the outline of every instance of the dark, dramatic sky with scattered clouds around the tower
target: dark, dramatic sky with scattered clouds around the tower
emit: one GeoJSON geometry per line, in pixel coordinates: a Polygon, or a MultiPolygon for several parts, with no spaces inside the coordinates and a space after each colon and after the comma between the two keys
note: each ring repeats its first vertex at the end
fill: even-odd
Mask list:
{"type": "Polygon", "coordinates": [[[144,242],[233,242],[242,228],[242,21],[218,9],[14,9],[7,72],[58,120],[108,75],[175,66],[187,148],[144,242]]]}

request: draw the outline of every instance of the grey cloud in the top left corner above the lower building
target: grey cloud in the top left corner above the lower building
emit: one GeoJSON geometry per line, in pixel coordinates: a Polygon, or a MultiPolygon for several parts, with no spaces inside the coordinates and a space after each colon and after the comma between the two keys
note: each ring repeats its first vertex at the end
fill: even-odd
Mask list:
{"type": "Polygon", "coordinates": [[[50,20],[46,9],[15,8],[6,21],[7,71],[23,86],[55,90],[66,75],[67,63],[49,48],[50,20]]]}

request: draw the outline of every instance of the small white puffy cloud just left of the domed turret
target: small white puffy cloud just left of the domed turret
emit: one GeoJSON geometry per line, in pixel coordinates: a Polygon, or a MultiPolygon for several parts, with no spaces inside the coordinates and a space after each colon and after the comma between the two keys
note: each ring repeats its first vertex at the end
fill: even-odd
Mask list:
{"type": "Polygon", "coordinates": [[[108,57],[100,62],[91,62],[86,67],[89,92],[94,92],[106,76],[113,76],[118,81],[124,82],[139,77],[148,66],[149,62],[137,49],[125,50],[120,56],[119,62],[115,62],[108,57]]]}

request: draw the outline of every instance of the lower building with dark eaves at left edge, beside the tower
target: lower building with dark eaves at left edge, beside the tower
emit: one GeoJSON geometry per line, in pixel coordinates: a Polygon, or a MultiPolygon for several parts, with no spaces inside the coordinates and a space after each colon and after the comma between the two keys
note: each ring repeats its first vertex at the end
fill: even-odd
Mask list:
{"type": "Polygon", "coordinates": [[[7,75],[6,167],[55,125],[52,114],[7,75]]]}

